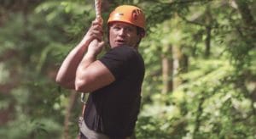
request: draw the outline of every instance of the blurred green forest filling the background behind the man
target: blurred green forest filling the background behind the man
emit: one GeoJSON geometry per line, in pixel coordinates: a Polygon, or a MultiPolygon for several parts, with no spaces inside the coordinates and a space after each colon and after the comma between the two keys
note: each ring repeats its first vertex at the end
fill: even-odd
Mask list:
{"type": "MultiPolygon", "coordinates": [[[[103,0],[147,17],[138,139],[256,138],[256,1],[103,0]]],[[[92,0],[0,1],[0,136],[75,138],[82,103],[55,75],[95,19],[92,0]]],[[[106,27],[106,26],[105,26],[106,27]]]]}

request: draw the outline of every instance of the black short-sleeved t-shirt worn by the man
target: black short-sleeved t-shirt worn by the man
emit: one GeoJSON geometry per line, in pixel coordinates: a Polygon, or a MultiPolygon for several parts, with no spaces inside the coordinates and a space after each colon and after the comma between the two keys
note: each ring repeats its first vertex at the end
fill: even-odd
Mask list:
{"type": "Polygon", "coordinates": [[[132,47],[114,47],[99,59],[115,81],[91,92],[85,108],[85,123],[110,138],[131,136],[141,103],[145,73],[142,56],[132,47]]]}

